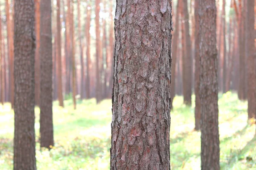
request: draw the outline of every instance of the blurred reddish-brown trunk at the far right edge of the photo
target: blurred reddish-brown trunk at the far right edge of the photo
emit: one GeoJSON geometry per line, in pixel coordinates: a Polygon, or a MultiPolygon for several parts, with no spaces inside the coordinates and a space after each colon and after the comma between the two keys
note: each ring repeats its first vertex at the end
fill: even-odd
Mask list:
{"type": "Polygon", "coordinates": [[[248,85],[248,119],[254,118],[256,115],[256,50],[254,42],[254,0],[247,2],[247,85],[248,85]]]}

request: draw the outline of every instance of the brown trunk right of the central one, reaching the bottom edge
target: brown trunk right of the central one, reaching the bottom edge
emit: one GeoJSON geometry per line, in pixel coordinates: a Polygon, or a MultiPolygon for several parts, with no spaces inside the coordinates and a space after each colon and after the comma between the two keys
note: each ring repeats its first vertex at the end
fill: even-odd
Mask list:
{"type": "Polygon", "coordinates": [[[201,170],[219,170],[218,59],[215,0],[199,0],[201,170]]]}

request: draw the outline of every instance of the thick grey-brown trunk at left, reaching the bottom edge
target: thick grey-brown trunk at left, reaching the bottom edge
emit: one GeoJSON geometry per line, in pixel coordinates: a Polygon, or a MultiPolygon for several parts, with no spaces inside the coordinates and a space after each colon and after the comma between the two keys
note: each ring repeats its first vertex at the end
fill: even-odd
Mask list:
{"type": "Polygon", "coordinates": [[[15,0],[14,8],[14,170],[36,170],[34,0],[15,0]]]}

